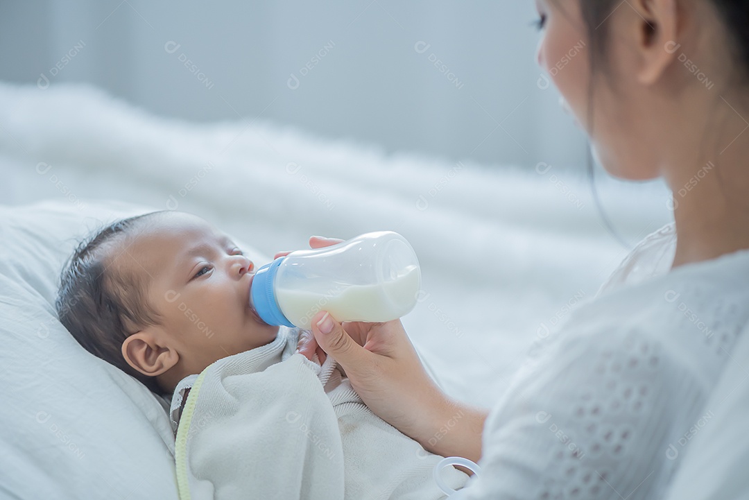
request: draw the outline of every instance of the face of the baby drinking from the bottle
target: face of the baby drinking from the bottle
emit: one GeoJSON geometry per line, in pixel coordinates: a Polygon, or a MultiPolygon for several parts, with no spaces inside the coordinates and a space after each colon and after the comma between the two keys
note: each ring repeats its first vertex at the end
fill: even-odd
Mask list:
{"type": "Polygon", "coordinates": [[[254,264],[203,219],[160,213],[128,243],[125,258],[114,264],[145,274],[148,303],[184,373],[198,374],[217,359],[276,338],[279,327],[263,323],[249,307],[254,264]]]}

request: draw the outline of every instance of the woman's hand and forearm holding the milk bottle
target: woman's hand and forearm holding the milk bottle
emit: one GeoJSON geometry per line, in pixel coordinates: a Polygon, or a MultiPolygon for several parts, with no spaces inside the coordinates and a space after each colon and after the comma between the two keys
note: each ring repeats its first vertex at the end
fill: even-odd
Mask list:
{"type": "MultiPolygon", "coordinates": [[[[321,248],[340,241],[312,237],[309,243],[321,248]]],[[[354,390],[380,418],[428,451],[479,460],[487,412],[440,391],[400,320],[339,323],[321,311],[312,318],[312,335],[303,333],[299,351],[312,358],[314,353],[321,355],[320,348],[336,359],[354,390]]]]}

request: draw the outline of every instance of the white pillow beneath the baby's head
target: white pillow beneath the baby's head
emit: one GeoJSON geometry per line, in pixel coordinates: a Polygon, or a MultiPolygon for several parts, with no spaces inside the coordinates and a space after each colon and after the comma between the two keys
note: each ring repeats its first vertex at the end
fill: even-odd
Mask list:
{"type": "Polygon", "coordinates": [[[79,240],[150,211],[111,201],[0,206],[0,496],[178,499],[165,401],[80,347],[54,307],[79,240]]]}

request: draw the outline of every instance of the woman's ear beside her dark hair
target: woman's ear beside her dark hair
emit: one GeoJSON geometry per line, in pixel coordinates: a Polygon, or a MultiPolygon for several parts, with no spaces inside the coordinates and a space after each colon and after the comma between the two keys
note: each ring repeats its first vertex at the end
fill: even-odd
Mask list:
{"type": "MultiPolygon", "coordinates": [[[[677,0],[630,0],[634,10],[637,50],[637,80],[643,85],[657,82],[676,58],[674,51],[679,27],[677,0]]],[[[624,8],[624,7],[622,7],[624,8]]]]}

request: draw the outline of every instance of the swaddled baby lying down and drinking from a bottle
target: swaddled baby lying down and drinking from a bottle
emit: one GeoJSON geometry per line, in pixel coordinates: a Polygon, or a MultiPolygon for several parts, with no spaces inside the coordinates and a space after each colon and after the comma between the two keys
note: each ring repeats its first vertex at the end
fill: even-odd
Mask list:
{"type": "Polygon", "coordinates": [[[441,457],[377,418],[333,359],[294,354],[298,329],[250,308],[254,269],[204,220],[155,212],[104,228],[61,275],[73,337],[172,397],[181,497],[443,498],[441,457]]]}

